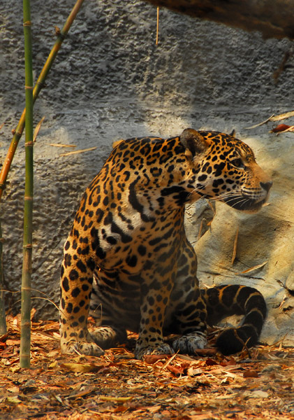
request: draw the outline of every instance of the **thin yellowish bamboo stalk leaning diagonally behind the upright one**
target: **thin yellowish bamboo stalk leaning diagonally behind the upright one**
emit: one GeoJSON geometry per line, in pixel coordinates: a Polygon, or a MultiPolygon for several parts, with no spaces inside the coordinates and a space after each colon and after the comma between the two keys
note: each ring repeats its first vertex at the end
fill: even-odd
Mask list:
{"type": "MultiPolygon", "coordinates": [[[[78,14],[78,11],[80,10],[83,2],[84,0],[76,1],[75,6],[73,6],[73,10],[71,10],[71,13],[68,16],[63,29],[61,31],[58,31],[57,33],[57,41],[54,43],[53,48],[50,52],[50,55],[47,57],[47,60],[43,66],[43,69],[34,87],[34,91],[33,91],[34,102],[36,101],[42,87],[44,87],[45,79],[47,78],[47,74],[49,73],[51,66],[54,62],[54,59],[57,56],[57,52],[59,51],[61,44],[64,41],[64,38],[66,37],[69,29],[71,28],[71,25],[73,21],[75,20],[75,17],[78,14]]],[[[17,124],[17,127],[15,129],[15,134],[13,135],[13,139],[10,143],[10,147],[6,155],[6,159],[4,160],[4,163],[0,172],[0,200],[2,197],[3,190],[6,186],[6,179],[8,176],[11,162],[13,161],[13,157],[15,155],[18,142],[20,141],[20,138],[22,137],[22,132],[24,130],[24,124],[25,124],[25,115],[26,115],[26,109],[24,109],[24,111],[22,112],[20,121],[17,124]]]]}

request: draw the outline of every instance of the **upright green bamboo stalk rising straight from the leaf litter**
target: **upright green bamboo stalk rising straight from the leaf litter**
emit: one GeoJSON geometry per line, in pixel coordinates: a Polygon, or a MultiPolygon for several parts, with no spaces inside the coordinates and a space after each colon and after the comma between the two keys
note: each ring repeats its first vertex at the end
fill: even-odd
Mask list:
{"type": "Polygon", "coordinates": [[[30,367],[31,353],[31,251],[33,242],[34,130],[33,59],[31,51],[31,5],[23,0],[24,69],[26,92],[24,257],[22,261],[22,321],[20,325],[20,367],[30,367]]]}

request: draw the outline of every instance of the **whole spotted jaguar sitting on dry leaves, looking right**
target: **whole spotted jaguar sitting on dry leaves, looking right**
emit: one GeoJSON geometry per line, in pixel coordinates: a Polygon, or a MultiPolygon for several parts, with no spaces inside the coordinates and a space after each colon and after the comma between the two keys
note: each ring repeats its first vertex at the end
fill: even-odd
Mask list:
{"type": "Polygon", "coordinates": [[[117,141],[85,190],[64,246],[61,351],[101,356],[129,330],[138,332],[135,358],[195,354],[207,344],[207,325],[230,314],[243,321],[220,333],[219,350],[255,345],[267,311],[263,295],[243,285],[200,289],[184,210],[205,197],[255,213],[271,186],[251,148],[233,135],[188,128],[168,139],[117,141]]]}

